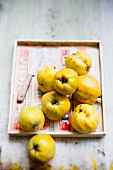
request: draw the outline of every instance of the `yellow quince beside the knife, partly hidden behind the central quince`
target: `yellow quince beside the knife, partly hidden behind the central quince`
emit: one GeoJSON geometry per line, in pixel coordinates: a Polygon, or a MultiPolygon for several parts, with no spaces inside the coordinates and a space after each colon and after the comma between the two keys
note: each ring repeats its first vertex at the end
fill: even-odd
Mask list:
{"type": "Polygon", "coordinates": [[[55,68],[53,66],[44,66],[42,69],[38,71],[37,81],[39,84],[39,89],[42,92],[46,93],[54,90],[53,80],[54,75],[58,70],[59,70],[58,68],[55,68]]]}

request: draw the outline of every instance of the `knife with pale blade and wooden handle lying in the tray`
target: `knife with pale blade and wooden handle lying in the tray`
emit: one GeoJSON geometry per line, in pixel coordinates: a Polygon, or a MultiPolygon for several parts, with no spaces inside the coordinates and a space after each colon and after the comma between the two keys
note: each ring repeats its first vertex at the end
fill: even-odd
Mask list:
{"type": "Polygon", "coordinates": [[[44,60],[44,54],[46,52],[46,48],[41,48],[40,51],[38,52],[38,55],[36,55],[33,64],[28,72],[28,75],[23,82],[23,85],[20,87],[20,92],[17,97],[18,102],[23,102],[24,97],[27,93],[28,87],[31,83],[32,77],[36,75],[37,71],[41,68],[44,60]]]}

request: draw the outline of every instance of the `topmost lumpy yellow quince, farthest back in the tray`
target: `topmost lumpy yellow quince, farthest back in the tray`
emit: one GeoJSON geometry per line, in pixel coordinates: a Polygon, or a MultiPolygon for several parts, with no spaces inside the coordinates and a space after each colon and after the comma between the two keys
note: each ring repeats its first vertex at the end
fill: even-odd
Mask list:
{"type": "Polygon", "coordinates": [[[86,51],[80,50],[76,54],[70,54],[66,57],[65,66],[75,70],[79,76],[85,75],[92,66],[92,60],[86,51]]]}

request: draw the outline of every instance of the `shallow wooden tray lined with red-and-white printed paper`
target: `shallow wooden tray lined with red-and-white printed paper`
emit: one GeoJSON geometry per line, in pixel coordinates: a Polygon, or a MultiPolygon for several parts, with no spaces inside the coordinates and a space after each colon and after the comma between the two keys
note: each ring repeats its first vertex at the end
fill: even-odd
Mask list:
{"type": "MultiPolygon", "coordinates": [[[[102,53],[100,41],[37,41],[37,40],[16,40],[14,45],[12,79],[11,79],[11,97],[8,134],[27,136],[39,133],[48,133],[55,137],[103,137],[104,128],[104,94],[103,94],[103,70],[102,53]],[[100,123],[95,132],[80,134],[73,130],[69,123],[70,111],[60,121],[50,121],[46,119],[44,128],[36,132],[23,132],[18,125],[18,113],[25,106],[36,106],[41,108],[41,94],[37,90],[36,76],[33,77],[28,92],[22,103],[17,102],[17,96],[24,79],[28,74],[33,58],[42,47],[47,48],[45,58],[41,67],[44,65],[54,65],[58,68],[64,67],[65,56],[69,53],[75,53],[77,50],[85,50],[92,59],[92,68],[89,75],[94,76],[100,83],[102,98],[94,104],[94,107],[100,114],[100,123]]],[[[72,99],[70,99],[71,102],[72,99]]],[[[75,101],[74,101],[75,104],[75,101]]]]}

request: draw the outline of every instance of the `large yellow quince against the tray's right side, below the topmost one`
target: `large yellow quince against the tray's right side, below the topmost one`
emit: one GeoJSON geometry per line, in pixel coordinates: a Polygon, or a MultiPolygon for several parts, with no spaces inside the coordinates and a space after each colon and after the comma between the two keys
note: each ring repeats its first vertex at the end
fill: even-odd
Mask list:
{"type": "Polygon", "coordinates": [[[93,104],[101,96],[99,82],[93,76],[82,75],[78,77],[79,85],[74,93],[74,97],[80,103],[93,104]]]}

